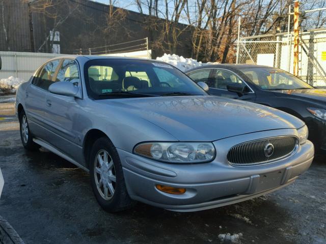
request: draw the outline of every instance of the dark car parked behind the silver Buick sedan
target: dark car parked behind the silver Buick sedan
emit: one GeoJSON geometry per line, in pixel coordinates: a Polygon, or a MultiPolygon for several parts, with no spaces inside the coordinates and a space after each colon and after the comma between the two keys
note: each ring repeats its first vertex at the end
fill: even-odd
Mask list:
{"type": "Polygon", "coordinates": [[[205,82],[211,95],[263,104],[302,119],[316,151],[326,153],[326,89],[267,66],[207,65],[185,73],[196,82],[205,82]]]}

